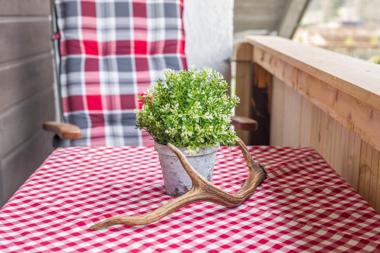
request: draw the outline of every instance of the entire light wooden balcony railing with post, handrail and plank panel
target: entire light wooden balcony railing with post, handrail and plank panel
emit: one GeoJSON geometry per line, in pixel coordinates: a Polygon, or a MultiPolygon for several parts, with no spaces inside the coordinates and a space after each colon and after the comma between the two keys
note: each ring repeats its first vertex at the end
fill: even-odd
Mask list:
{"type": "Polygon", "coordinates": [[[276,36],[246,40],[236,60],[251,60],[253,77],[237,65],[236,115],[255,114],[247,99],[264,80],[270,144],[314,147],[379,212],[380,65],[276,36]]]}

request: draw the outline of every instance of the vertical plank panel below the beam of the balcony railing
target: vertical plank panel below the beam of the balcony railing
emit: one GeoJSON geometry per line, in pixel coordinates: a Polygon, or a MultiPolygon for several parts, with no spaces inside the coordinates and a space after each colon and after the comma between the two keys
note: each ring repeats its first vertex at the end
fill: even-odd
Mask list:
{"type": "Polygon", "coordinates": [[[380,213],[380,152],[276,77],[272,94],[270,144],[313,147],[380,213]]]}

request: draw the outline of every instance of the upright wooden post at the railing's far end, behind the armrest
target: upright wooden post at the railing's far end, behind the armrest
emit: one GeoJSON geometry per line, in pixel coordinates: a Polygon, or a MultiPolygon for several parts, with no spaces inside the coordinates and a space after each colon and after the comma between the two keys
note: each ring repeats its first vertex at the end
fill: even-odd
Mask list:
{"type": "MultiPolygon", "coordinates": [[[[236,96],[240,98],[240,103],[235,108],[235,115],[242,117],[251,116],[250,99],[252,94],[252,61],[253,47],[249,43],[236,43],[234,58],[236,59],[236,96]]],[[[250,132],[236,129],[236,134],[244,143],[250,144],[250,132]]]]}

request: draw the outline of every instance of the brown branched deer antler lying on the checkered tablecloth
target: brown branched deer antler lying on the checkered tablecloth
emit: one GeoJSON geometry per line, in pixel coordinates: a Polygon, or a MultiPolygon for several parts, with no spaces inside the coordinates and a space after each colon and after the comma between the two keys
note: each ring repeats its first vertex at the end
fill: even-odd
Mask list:
{"type": "Polygon", "coordinates": [[[264,182],[267,177],[267,173],[263,166],[255,163],[241,139],[237,141],[237,144],[240,146],[245,162],[248,165],[249,175],[247,180],[245,180],[243,187],[236,193],[228,193],[208,182],[190,165],[184,154],[182,154],[179,149],[168,143],[168,147],[177,155],[180,163],[192,180],[193,186],[190,191],[176,199],[173,199],[165,205],[158,207],[150,213],[139,216],[114,216],[91,226],[90,229],[98,230],[119,224],[131,226],[146,225],[160,220],[169,213],[172,213],[181,207],[201,201],[213,202],[227,207],[239,206],[242,202],[252,196],[260,183],[264,182]]]}

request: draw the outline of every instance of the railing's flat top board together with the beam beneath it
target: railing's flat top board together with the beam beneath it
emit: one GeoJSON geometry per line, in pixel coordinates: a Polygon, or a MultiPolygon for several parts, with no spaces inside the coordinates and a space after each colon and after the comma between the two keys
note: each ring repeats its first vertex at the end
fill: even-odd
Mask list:
{"type": "Polygon", "coordinates": [[[380,150],[380,65],[277,36],[245,38],[256,64],[380,150]]]}

